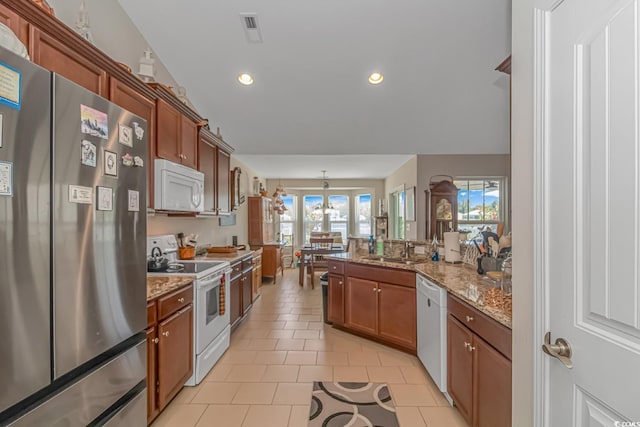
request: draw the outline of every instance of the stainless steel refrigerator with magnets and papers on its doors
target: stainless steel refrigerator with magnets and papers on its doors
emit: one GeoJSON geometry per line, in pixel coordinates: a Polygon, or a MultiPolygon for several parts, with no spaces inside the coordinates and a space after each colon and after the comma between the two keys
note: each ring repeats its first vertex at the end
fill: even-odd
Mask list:
{"type": "Polygon", "coordinates": [[[0,49],[0,425],[146,425],[147,124],[0,49]]]}

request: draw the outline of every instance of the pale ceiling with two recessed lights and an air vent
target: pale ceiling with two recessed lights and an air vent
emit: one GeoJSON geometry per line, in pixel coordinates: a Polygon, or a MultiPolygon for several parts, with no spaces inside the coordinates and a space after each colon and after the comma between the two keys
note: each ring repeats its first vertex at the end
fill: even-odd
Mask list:
{"type": "Polygon", "coordinates": [[[508,153],[509,80],[494,69],[510,53],[510,0],[119,2],[265,178],[384,178],[415,154],[508,153]]]}

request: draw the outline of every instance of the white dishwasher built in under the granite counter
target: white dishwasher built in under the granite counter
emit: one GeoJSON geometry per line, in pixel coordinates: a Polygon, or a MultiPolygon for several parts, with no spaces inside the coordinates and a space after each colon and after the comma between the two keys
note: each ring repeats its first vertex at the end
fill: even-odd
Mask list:
{"type": "Polygon", "coordinates": [[[447,290],[416,275],[418,357],[440,391],[447,393],[447,290]]]}

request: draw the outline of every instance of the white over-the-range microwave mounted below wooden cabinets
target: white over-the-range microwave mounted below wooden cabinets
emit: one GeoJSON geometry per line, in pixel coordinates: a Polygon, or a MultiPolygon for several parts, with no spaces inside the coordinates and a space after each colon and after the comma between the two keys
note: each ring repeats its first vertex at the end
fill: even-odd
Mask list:
{"type": "Polygon", "coordinates": [[[165,211],[204,211],[204,174],[156,159],[154,163],[154,208],[165,211]]]}

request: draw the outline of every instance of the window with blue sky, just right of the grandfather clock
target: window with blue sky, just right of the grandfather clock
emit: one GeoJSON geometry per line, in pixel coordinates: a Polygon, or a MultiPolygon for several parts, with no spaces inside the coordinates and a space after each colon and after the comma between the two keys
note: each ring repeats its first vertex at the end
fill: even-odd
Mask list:
{"type": "Polygon", "coordinates": [[[458,229],[470,230],[469,239],[486,227],[495,231],[504,222],[504,178],[456,179],[458,229]]]}

